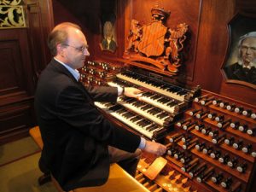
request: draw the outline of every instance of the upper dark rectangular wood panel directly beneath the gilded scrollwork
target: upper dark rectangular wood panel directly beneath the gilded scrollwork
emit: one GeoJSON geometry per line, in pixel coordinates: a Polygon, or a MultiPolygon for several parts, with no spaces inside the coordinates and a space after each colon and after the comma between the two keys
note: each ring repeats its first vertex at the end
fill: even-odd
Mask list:
{"type": "Polygon", "coordinates": [[[0,79],[4,82],[0,85],[1,96],[18,91],[31,96],[34,83],[26,29],[0,30],[0,49],[0,79]]]}

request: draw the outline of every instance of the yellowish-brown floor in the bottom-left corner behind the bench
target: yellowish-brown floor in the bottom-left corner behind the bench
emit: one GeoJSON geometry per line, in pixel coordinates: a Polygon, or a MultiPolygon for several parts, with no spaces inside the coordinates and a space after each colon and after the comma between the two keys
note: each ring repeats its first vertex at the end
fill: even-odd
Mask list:
{"type": "Polygon", "coordinates": [[[38,185],[38,146],[27,137],[0,146],[1,192],[57,192],[52,183],[38,185]]]}

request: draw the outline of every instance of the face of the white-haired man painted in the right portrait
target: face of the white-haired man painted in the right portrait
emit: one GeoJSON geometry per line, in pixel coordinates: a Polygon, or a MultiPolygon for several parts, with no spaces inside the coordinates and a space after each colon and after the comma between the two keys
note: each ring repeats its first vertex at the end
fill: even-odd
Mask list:
{"type": "Polygon", "coordinates": [[[242,41],[241,58],[245,65],[256,60],[256,38],[246,38],[242,41]]]}

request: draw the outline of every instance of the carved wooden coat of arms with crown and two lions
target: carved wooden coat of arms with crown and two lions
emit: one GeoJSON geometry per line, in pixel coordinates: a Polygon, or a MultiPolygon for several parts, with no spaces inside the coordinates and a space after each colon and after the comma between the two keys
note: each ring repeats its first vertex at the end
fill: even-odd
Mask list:
{"type": "Polygon", "coordinates": [[[171,29],[164,25],[170,12],[155,6],[151,9],[152,22],[141,26],[131,20],[128,46],[124,58],[129,61],[143,61],[171,75],[177,75],[181,66],[181,51],[189,26],[185,23],[171,29]]]}

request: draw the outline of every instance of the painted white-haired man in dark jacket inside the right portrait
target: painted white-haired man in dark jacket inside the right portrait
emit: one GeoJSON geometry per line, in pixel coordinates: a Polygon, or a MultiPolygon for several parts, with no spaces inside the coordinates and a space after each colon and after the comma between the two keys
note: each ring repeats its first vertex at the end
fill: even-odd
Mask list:
{"type": "Polygon", "coordinates": [[[238,42],[238,61],[225,67],[228,79],[256,84],[256,32],[248,32],[238,42]]]}

